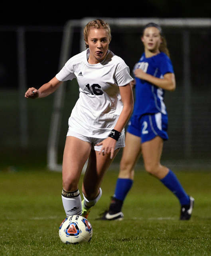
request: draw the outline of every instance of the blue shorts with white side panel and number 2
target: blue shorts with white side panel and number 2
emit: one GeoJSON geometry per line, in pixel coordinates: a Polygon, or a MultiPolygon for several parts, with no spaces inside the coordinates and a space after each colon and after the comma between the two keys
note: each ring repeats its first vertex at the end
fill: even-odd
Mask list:
{"type": "Polygon", "coordinates": [[[152,140],[156,136],[168,140],[168,116],[162,113],[144,116],[132,116],[127,132],[141,138],[141,142],[152,140]]]}

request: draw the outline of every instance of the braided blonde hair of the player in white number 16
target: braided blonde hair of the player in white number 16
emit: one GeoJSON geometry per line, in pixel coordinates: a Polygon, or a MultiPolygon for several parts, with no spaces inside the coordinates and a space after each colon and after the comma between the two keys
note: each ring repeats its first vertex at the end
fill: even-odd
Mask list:
{"type": "MultiPolygon", "coordinates": [[[[106,23],[104,20],[101,20],[101,19],[90,21],[85,26],[85,28],[83,30],[83,36],[84,36],[85,42],[88,41],[89,30],[91,28],[97,28],[97,29],[102,28],[102,29],[105,29],[108,32],[108,38],[109,38],[109,42],[110,42],[110,40],[111,40],[110,26],[108,25],[108,23],[106,23]]],[[[86,48],[89,48],[88,44],[86,44],[86,48]]]]}

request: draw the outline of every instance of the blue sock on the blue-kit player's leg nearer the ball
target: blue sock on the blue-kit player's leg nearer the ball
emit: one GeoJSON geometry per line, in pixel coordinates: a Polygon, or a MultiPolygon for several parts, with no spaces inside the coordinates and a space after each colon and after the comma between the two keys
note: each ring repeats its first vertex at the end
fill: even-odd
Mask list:
{"type": "Polygon", "coordinates": [[[118,178],[116,181],[116,188],[114,197],[118,200],[124,201],[130,188],[132,187],[133,180],[118,178]]]}

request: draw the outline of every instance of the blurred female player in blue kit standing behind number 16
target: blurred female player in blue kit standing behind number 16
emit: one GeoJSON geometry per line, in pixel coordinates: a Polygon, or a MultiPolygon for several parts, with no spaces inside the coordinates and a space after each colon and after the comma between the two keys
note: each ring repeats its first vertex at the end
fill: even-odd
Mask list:
{"type": "Polygon", "coordinates": [[[134,166],[142,154],[146,171],[158,178],[181,204],[180,220],[191,217],[194,199],[187,195],[172,170],[160,164],[163,142],[168,140],[168,114],[164,104],[165,90],[176,88],[174,69],[169,58],[162,28],[148,23],[141,40],[144,53],[134,66],[136,100],[128,123],[125,148],[120,162],[120,172],[109,210],[101,220],[122,220],[123,202],[132,187],[134,166]]]}

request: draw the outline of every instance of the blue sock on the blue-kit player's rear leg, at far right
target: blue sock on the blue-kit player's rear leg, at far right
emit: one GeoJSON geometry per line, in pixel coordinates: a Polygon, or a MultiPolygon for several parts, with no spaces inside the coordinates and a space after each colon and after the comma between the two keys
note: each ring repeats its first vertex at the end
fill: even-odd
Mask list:
{"type": "Polygon", "coordinates": [[[181,205],[190,203],[189,196],[186,194],[174,172],[169,170],[166,177],[160,181],[177,196],[181,205]]]}

